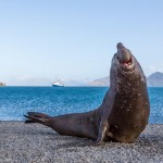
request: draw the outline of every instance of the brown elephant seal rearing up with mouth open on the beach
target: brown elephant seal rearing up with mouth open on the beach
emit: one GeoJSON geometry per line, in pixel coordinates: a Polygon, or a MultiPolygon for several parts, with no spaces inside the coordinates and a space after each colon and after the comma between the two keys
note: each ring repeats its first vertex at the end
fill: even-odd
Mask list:
{"type": "Polygon", "coordinates": [[[102,104],[89,112],[49,116],[28,112],[25,123],[40,123],[61,135],[92,139],[96,145],[114,140],[130,143],[148,124],[150,103],[146,77],[131,52],[122,42],[112,59],[110,88],[102,104]]]}

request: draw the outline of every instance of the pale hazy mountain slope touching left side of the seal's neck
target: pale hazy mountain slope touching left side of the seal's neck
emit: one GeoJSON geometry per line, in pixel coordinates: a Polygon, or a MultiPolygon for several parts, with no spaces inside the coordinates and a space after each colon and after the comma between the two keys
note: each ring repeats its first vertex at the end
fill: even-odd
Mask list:
{"type": "Polygon", "coordinates": [[[108,86],[110,86],[110,77],[106,76],[103,78],[96,79],[91,83],[88,83],[88,86],[108,87],[108,86]]]}

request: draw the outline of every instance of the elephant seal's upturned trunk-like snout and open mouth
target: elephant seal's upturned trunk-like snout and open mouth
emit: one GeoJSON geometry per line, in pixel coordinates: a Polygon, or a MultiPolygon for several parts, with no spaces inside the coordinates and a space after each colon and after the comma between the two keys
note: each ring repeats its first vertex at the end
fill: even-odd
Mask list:
{"type": "Polygon", "coordinates": [[[117,53],[116,53],[117,61],[120,66],[125,72],[134,71],[134,59],[128,49],[126,49],[123,43],[117,43],[117,53]]]}

